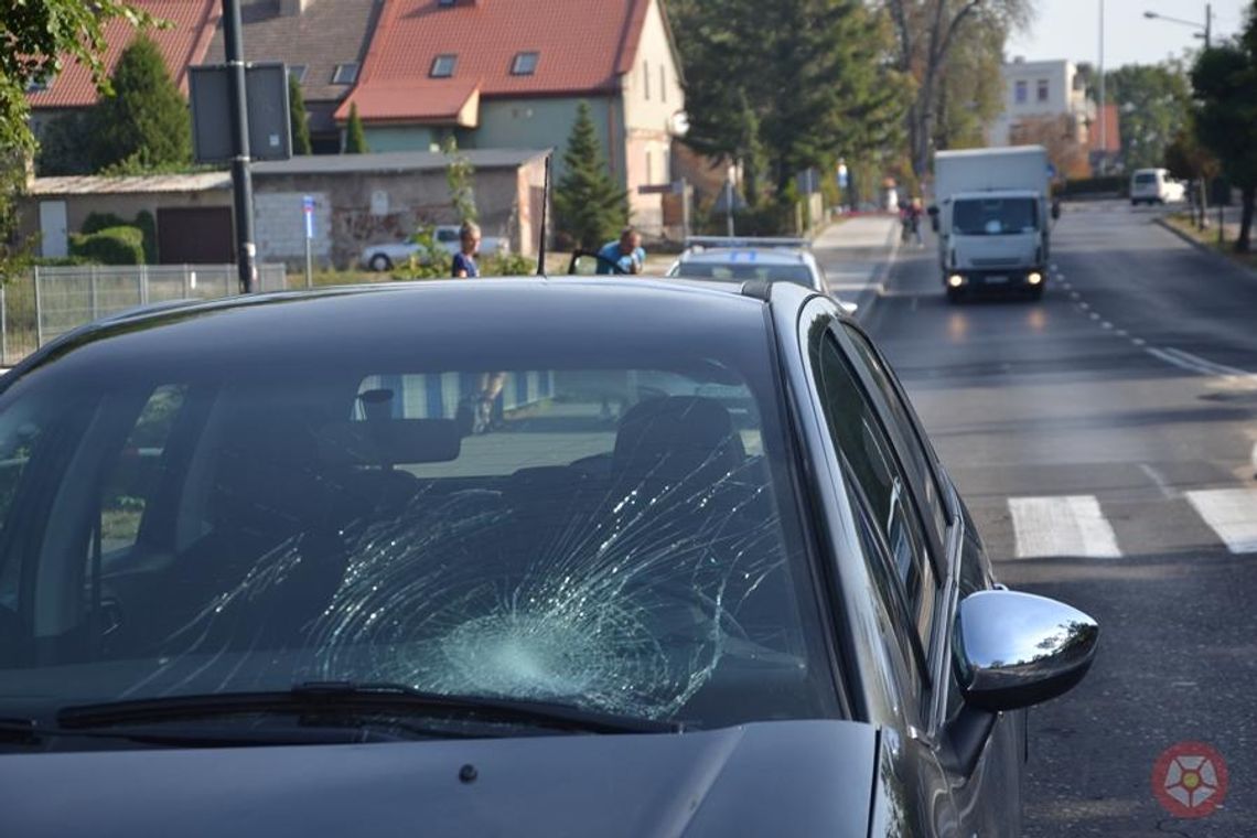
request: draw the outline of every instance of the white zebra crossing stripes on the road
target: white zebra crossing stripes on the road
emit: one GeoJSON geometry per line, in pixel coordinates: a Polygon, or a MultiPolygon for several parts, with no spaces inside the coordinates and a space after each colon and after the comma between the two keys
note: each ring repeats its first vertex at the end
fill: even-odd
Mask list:
{"type": "MultiPolygon", "coordinates": [[[[1210,534],[1213,547],[1226,548],[1233,555],[1257,554],[1257,487],[1183,491],[1163,504],[1183,505],[1190,510],[1188,515],[1199,520],[1198,525],[1189,523],[1178,529],[1198,526],[1210,534]]],[[[1106,505],[1096,495],[1008,498],[1013,558],[1120,559],[1146,553],[1146,543],[1138,549],[1123,549],[1124,540],[1134,540],[1135,524],[1126,511],[1115,515],[1106,505]]],[[[1182,511],[1170,513],[1164,506],[1145,510],[1153,519],[1173,514],[1182,511]]]]}

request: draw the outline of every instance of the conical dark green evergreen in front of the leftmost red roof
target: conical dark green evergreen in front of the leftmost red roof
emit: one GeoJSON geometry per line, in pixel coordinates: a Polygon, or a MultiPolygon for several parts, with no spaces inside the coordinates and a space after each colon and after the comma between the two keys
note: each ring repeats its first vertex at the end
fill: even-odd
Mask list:
{"type": "Polygon", "coordinates": [[[122,52],[111,84],[112,93],[91,116],[97,170],[145,171],[192,162],[187,102],[151,38],[141,34],[122,52]]]}

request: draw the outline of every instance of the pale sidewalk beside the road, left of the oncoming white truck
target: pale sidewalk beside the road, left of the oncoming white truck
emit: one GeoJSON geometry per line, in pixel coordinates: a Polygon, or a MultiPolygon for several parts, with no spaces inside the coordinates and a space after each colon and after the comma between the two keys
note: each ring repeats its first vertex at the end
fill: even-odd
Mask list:
{"type": "Polygon", "coordinates": [[[830,225],[812,241],[812,253],[843,303],[855,303],[864,318],[885,290],[899,251],[899,219],[860,215],[830,225]]]}

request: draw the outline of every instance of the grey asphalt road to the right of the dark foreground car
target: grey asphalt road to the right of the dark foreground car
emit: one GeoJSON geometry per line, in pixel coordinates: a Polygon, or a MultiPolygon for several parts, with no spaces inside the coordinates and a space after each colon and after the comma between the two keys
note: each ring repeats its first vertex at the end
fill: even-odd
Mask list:
{"type": "Polygon", "coordinates": [[[901,249],[867,312],[1002,580],[1101,623],[1031,714],[1029,835],[1257,835],[1257,276],[1155,214],[1067,207],[1041,303],[949,305],[901,249]],[[1228,766],[1205,818],[1153,794],[1184,740],[1228,766]]]}

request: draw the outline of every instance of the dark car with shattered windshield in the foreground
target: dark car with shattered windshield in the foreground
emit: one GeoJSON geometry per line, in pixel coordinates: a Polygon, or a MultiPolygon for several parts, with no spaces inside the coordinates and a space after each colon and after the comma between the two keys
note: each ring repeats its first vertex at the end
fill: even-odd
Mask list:
{"type": "Polygon", "coordinates": [[[791,283],[119,317],[0,379],[0,521],[23,837],[1012,835],[1097,637],[791,283]]]}

